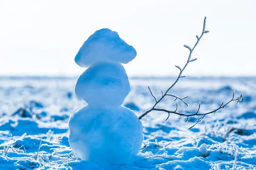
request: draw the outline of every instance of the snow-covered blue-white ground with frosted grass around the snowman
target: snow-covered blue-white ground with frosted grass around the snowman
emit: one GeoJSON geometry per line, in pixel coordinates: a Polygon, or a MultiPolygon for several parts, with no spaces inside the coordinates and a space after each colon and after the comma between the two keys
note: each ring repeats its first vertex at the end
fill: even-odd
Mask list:
{"type": "MultiPolygon", "coordinates": [[[[161,96],[173,78],[130,79],[131,93],[124,105],[140,116],[154,104],[148,91],[161,96]]],[[[69,116],[85,105],[74,94],[73,78],[0,78],[0,170],[73,169],[100,170],[89,161],[77,160],[68,143],[69,116]],[[41,142],[41,147],[39,148],[41,142]],[[38,151],[39,148],[39,151],[38,151]]],[[[143,117],[141,153],[127,164],[103,169],[207,170],[256,169],[256,78],[185,78],[170,91],[186,99],[179,112],[213,111],[221,102],[243,93],[238,105],[230,103],[210,114],[194,128],[197,119],[151,112],[143,117]],[[235,159],[237,155],[237,158],[235,159]]],[[[159,108],[175,110],[166,97],[159,108]]]]}

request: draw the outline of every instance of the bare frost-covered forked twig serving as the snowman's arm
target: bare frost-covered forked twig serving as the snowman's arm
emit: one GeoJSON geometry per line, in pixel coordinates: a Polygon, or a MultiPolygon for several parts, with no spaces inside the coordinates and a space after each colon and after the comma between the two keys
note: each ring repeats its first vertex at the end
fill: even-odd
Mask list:
{"type": "MultiPolygon", "coordinates": [[[[198,123],[200,123],[200,122],[204,119],[204,117],[205,117],[206,115],[208,115],[208,114],[210,114],[210,113],[216,113],[218,110],[220,110],[221,108],[224,108],[224,107],[225,107],[226,105],[228,105],[230,102],[236,101],[237,103],[239,103],[239,101],[241,100],[242,94],[241,94],[237,99],[234,99],[234,95],[235,95],[235,92],[234,92],[234,93],[233,93],[233,98],[232,98],[229,102],[227,102],[225,105],[224,105],[224,102],[222,102],[222,103],[221,103],[221,106],[220,106],[219,108],[215,109],[214,111],[208,112],[208,113],[198,113],[199,110],[200,110],[200,105],[201,105],[200,102],[199,102],[199,106],[198,106],[197,112],[194,113],[194,114],[190,114],[190,115],[185,114],[185,113],[178,113],[178,112],[177,112],[177,109],[178,109],[178,102],[176,103],[176,109],[175,109],[175,111],[169,111],[169,110],[166,110],[166,109],[162,109],[162,108],[157,108],[157,107],[156,107],[157,104],[158,104],[165,96],[172,96],[172,97],[175,97],[175,100],[179,99],[179,100],[181,100],[185,105],[189,106],[189,105],[184,101],[184,99],[186,99],[186,98],[189,97],[189,96],[186,96],[186,97],[181,98],[181,97],[178,97],[178,96],[176,96],[176,95],[174,95],[174,94],[169,94],[169,91],[175,86],[175,84],[179,81],[180,78],[186,77],[186,76],[183,76],[182,73],[183,73],[183,71],[185,70],[186,66],[189,64],[189,62],[193,62],[193,61],[197,60],[197,58],[191,59],[191,56],[192,56],[192,52],[194,51],[195,47],[198,45],[198,42],[201,40],[201,38],[203,37],[203,35],[209,32],[209,31],[205,30],[205,25],[206,25],[206,17],[204,18],[204,26],[203,26],[203,31],[202,31],[202,33],[201,33],[201,36],[198,37],[198,36],[196,35],[197,42],[195,43],[194,47],[193,47],[193,48],[190,48],[188,45],[184,45],[184,47],[188,48],[189,51],[190,51],[190,52],[189,52],[189,57],[188,57],[188,60],[187,60],[187,62],[186,62],[186,64],[185,64],[185,66],[184,66],[183,68],[181,68],[180,66],[175,65],[175,67],[180,70],[180,74],[178,75],[178,77],[177,77],[177,79],[175,80],[175,82],[166,90],[165,93],[164,93],[163,90],[161,90],[162,96],[161,96],[160,99],[157,99],[157,97],[154,95],[152,89],[148,86],[148,89],[149,89],[151,95],[152,95],[152,96],[154,97],[154,99],[155,99],[155,104],[154,104],[149,110],[145,111],[145,112],[139,117],[139,119],[142,119],[144,116],[146,116],[146,115],[147,115],[149,112],[151,112],[151,111],[164,111],[164,112],[167,112],[167,113],[168,113],[167,119],[169,119],[170,113],[174,113],[174,114],[177,114],[177,115],[186,117],[186,118],[187,118],[187,119],[186,119],[186,122],[189,120],[189,117],[192,117],[192,116],[202,116],[201,118],[198,119],[198,122],[195,124],[195,125],[197,125],[198,123]]],[[[174,101],[175,101],[175,100],[174,100],[174,101]]],[[[167,120],[167,119],[166,119],[166,120],[167,120]]],[[[193,125],[192,127],[194,127],[195,125],[193,125]]],[[[191,129],[192,127],[190,127],[189,129],[191,129]]]]}

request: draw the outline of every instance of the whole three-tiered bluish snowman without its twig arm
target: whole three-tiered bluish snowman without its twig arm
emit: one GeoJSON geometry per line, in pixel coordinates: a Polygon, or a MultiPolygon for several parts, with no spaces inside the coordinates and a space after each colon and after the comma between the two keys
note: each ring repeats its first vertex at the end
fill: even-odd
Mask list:
{"type": "Polygon", "coordinates": [[[70,117],[69,143],[82,160],[102,166],[125,164],[140,152],[141,122],[122,106],[131,87],[121,63],[136,55],[131,45],[108,28],[92,34],[77,53],[75,62],[87,69],[77,80],[75,93],[87,105],[70,117]]]}

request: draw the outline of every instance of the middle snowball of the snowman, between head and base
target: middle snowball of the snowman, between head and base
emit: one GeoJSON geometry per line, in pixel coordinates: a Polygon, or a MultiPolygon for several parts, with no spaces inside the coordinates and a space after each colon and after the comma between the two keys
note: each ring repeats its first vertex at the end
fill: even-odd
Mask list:
{"type": "Polygon", "coordinates": [[[98,62],[76,82],[75,93],[91,106],[118,107],[131,91],[125,68],[120,63],[98,62]]]}

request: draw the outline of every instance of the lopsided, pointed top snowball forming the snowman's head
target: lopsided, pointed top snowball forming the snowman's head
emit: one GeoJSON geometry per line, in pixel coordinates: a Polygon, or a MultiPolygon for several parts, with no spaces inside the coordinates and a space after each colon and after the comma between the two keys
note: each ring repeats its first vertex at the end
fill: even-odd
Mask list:
{"type": "Polygon", "coordinates": [[[95,62],[112,61],[128,63],[137,55],[135,49],[122,40],[116,31],[103,28],[93,33],[79,49],[75,62],[89,67],[95,62]]]}

